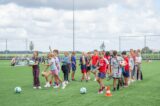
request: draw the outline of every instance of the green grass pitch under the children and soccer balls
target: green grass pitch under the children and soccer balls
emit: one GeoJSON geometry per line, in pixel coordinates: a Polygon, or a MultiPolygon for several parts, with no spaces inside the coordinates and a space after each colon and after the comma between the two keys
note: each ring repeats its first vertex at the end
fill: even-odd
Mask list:
{"type": "MultiPolygon", "coordinates": [[[[0,61],[0,105],[1,106],[159,106],[160,104],[160,62],[143,63],[144,80],[135,82],[129,88],[112,92],[112,97],[98,95],[97,82],[71,82],[66,89],[35,90],[32,88],[30,67],[10,67],[8,61],[0,61]],[[22,87],[21,94],[14,88],[22,87]],[[86,87],[87,94],[81,95],[79,89],[86,87]]],[[[44,67],[41,67],[41,71],[44,67]]],[[[62,75],[62,73],[61,73],[62,75]]],[[[77,70],[76,79],[80,79],[77,70]]],[[[92,76],[93,78],[93,76],[92,76]]],[[[45,79],[40,77],[41,85],[45,79]]],[[[105,81],[111,85],[112,80],[105,81]]]]}

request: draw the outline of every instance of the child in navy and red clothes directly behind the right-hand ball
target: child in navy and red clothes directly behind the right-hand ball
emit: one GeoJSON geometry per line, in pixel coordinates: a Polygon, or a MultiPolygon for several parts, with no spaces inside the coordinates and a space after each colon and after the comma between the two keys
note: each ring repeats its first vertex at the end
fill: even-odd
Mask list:
{"type": "Polygon", "coordinates": [[[85,79],[86,82],[88,81],[87,79],[87,66],[86,66],[86,63],[87,63],[87,58],[86,58],[86,54],[83,52],[82,53],[82,56],[80,57],[80,65],[81,65],[81,72],[82,72],[82,78],[81,78],[81,82],[85,79]]]}

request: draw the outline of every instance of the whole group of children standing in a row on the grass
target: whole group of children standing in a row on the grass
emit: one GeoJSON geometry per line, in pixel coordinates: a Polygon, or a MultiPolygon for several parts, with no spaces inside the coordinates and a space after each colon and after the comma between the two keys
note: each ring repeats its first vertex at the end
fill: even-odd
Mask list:
{"type": "MultiPolygon", "coordinates": [[[[79,58],[77,57],[75,52],[72,52],[71,56],[69,52],[64,52],[63,58],[60,59],[58,50],[50,52],[47,55],[47,62],[43,63],[45,70],[42,72],[42,76],[46,79],[44,87],[53,85],[54,88],[62,86],[62,89],[64,89],[70,81],[70,73],[71,80],[76,81],[75,73],[78,70],[77,66],[80,66],[81,69],[81,82],[84,80],[88,82],[91,80],[91,74],[94,75],[94,81],[97,81],[100,85],[99,94],[103,93],[105,89],[104,79],[106,77],[108,80],[113,78],[113,91],[119,90],[121,87],[128,87],[131,82],[136,80],[142,80],[142,57],[140,50],[131,49],[130,52],[123,51],[121,54],[117,51],[94,50],[93,54],[92,52],[82,52],[79,58]],[[49,71],[47,71],[48,68],[50,68],[49,71]],[[60,77],[61,71],[63,79],[60,77]]],[[[32,60],[35,62],[32,65],[33,86],[41,89],[39,81],[40,61],[37,51],[33,53],[32,60]]]]}

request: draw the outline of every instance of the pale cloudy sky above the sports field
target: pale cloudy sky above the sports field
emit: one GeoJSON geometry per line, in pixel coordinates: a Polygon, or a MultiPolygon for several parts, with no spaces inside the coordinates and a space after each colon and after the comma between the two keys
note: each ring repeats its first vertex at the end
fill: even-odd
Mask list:
{"type": "MultiPolygon", "coordinates": [[[[48,46],[72,50],[73,0],[0,0],[0,51],[36,50],[48,46]]],[[[75,47],[88,51],[144,47],[144,35],[160,35],[160,0],[75,0],[75,47]]],[[[147,46],[160,49],[159,37],[147,37],[147,46]]]]}

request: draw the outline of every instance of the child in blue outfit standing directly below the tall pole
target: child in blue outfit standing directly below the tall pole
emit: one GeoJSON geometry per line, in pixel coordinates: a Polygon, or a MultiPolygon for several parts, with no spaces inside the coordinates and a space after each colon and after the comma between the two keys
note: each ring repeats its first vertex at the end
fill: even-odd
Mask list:
{"type": "Polygon", "coordinates": [[[75,81],[74,75],[76,72],[76,53],[72,52],[72,56],[71,56],[71,65],[72,65],[72,81],[75,81]]]}

